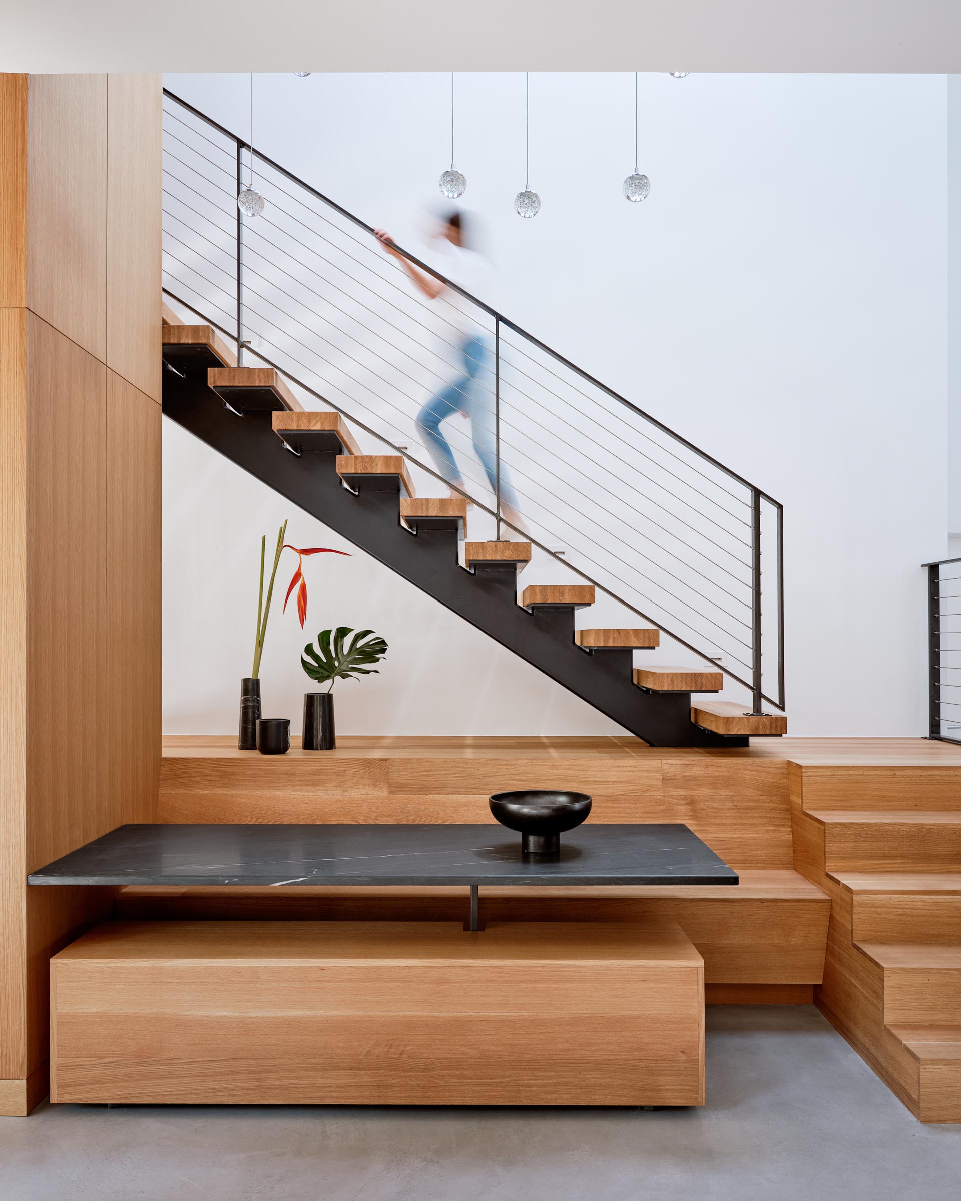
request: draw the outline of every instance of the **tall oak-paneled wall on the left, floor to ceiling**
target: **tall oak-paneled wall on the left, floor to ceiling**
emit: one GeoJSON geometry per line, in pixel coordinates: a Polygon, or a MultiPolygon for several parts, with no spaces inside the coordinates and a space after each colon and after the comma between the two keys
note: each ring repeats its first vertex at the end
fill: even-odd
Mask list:
{"type": "Polygon", "coordinates": [[[26,873],[156,814],[160,138],[159,76],[0,76],[0,1113],[113,900],[26,873]]]}

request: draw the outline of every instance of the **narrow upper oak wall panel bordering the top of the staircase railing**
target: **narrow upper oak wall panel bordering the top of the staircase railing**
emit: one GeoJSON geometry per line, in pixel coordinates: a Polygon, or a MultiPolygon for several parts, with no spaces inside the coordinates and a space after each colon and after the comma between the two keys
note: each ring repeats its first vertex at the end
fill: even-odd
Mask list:
{"type": "Polygon", "coordinates": [[[107,366],[160,404],[161,77],[107,79],[107,366]]]}

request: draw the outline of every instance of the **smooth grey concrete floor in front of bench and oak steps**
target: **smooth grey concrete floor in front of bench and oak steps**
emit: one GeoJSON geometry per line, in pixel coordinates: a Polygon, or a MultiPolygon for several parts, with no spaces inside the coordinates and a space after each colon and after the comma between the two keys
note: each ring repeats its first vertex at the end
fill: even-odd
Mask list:
{"type": "Polygon", "coordinates": [[[959,1201],[915,1122],[810,1008],[708,1010],[702,1110],[42,1106],[0,1118],[4,1201],[959,1201]]]}

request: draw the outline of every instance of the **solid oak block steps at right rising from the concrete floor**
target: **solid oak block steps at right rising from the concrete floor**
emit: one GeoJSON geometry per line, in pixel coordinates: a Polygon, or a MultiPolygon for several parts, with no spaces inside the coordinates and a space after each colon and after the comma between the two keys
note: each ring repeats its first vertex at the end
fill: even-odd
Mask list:
{"type": "Polygon", "coordinates": [[[789,775],[795,865],[834,902],[818,1005],[918,1118],[961,1122],[961,767],[789,775]]]}

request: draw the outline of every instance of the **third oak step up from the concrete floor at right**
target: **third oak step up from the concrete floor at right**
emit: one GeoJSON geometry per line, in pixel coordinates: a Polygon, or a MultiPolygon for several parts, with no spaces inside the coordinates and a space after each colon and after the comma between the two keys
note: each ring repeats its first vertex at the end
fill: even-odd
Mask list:
{"type": "Polygon", "coordinates": [[[961,873],[832,872],[858,942],[961,942],[961,873]]]}

